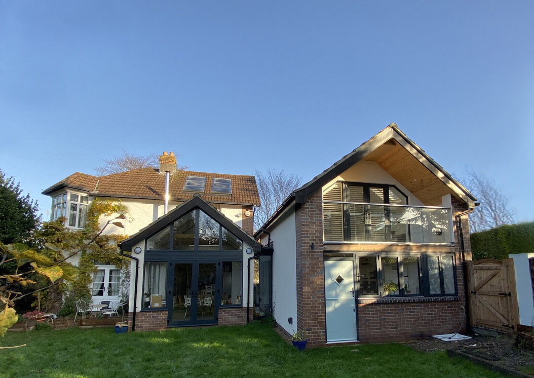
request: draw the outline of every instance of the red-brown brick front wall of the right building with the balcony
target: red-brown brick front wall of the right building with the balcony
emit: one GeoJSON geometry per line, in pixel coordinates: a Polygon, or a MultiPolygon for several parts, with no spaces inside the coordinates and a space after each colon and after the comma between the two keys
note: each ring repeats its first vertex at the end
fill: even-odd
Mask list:
{"type": "MultiPolygon", "coordinates": [[[[296,278],[297,328],[308,332],[308,345],[318,347],[326,342],[323,265],[323,207],[321,191],[311,195],[307,202],[297,205],[296,222],[296,278]],[[311,245],[314,245],[312,249],[311,245]]],[[[465,329],[464,262],[461,254],[460,233],[456,215],[466,204],[452,198],[454,246],[443,247],[456,255],[458,300],[417,303],[374,303],[358,305],[358,340],[362,342],[401,341],[421,338],[430,334],[456,332],[465,329]]],[[[463,217],[466,259],[471,259],[467,216],[463,217]]],[[[345,251],[372,250],[369,245],[343,246],[345,251]]],[[[382,246],[383,247],[383,246],[382,246]]],[[[394,249],[404,247],[391,247],[394,249]]],[[[330,249],[330,248],[329,248],[330,249]]],[[[410,246],[412,251],[435,250],[425,246],[410,246]]]]}

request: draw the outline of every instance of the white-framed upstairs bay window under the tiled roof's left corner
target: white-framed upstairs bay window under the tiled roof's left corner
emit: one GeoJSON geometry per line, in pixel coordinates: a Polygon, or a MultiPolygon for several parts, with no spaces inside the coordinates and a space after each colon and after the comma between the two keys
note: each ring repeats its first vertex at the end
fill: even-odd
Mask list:
{"type": "Polygon", "coordinates": [[[89,197],[75,193],[62,193],[52,198],[51,221],[60,217],[67,218],[67,226],[74,229],[83,229],[87,216],[89,197]],[[68,209],[68,211],[67,211],[68,209]]]}

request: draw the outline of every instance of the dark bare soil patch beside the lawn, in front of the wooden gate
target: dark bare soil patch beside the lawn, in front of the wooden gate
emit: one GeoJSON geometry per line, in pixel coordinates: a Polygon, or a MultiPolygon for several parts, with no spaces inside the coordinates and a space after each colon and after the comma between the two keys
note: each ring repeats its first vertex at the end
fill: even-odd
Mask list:
{"type": "Polygon", "coordinates": [[[444,342],[433,338],[410,343],[411,347],[425,352],[453,349],[475,357],[491,361],[514,371],[522,367],[534,366],[534,351],[528,348],[516,348],[515,336],[470,335],[471,340],[444,342]]]}

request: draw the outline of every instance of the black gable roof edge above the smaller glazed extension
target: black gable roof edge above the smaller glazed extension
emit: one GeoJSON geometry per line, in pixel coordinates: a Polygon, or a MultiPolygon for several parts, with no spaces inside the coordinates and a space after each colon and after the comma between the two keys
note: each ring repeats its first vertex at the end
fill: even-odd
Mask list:
{"type": "Polygon", "coordinates": [[[242,230],[241,227],[235,225],[232,221],[230,221],[230,219],[226,218],[224,214],[222,214],[222,212],[211,206],[198,194],[195,194],[193,198],[180,203],[176,208],[169,211],[166,215],[163,215],[162,217],[156,219],[148,226],[139,230],[139,232],[137,232],[136,234],[131,235],[131,237],[129,237],[128,239],[124,239],[123,241],[121,241],[121,250],[131,251],[132,247],[135,246],[137,243],[145,240],[146,238],[150,237],[152,234],[158,232],[164,227],[169,226],[171,223],[176,221],[176,219],[182,217],[183,215],[187,214],[195,208],[200,208],[211,218],[215,219],[215,221],[220,223],[226,230],[230,231],[239,239],[241,239],[244,243],[251,246],[254,252],[261,251],[260,243],[258,243],[258,241],[255,240],[254,237],[252,237],[252,235],[249,235],[244,230],[242,230]]]}

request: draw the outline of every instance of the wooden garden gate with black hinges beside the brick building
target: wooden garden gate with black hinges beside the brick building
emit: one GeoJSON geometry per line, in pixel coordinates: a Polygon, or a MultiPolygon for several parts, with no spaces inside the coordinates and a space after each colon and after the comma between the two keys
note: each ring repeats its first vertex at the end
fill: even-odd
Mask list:
{"type": "Polygon", "coordinates": [[[514,260],[483,259],[466,263],[470,324],[508,332],[516,330],[519,309],[514,260]]]}

